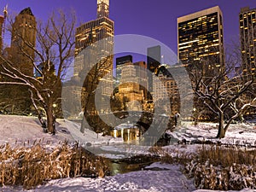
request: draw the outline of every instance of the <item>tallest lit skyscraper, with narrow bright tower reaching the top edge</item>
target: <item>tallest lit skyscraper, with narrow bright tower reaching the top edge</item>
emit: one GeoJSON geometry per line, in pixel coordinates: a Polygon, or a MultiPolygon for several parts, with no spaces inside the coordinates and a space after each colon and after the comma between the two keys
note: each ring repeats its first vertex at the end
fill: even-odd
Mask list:
{"type": "Polygon", "coordinates": [[[108,16],[109,0],[97,0],[96,20],[84,23],[75,32],[73,77],[83,83],[83,88],[82,92],[78,87],[74,90],[78,98],[81,92],[82,110],[86,113],[96,113],[93,94],[96,88],[100,88],[101,96],[106,99],[113,90],[113,20],[108,16]]]}

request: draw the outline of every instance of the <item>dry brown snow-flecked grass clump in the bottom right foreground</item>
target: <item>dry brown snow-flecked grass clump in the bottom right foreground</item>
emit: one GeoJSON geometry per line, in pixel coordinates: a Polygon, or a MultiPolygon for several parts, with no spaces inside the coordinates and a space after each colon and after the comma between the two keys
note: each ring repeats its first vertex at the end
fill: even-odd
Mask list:
{"type": "Polygon", "coordinates": [[[185,164],[184,172],[194,177],[195,187],[199,189],[256,189],[256,150],[203,147],[185,164]]]}

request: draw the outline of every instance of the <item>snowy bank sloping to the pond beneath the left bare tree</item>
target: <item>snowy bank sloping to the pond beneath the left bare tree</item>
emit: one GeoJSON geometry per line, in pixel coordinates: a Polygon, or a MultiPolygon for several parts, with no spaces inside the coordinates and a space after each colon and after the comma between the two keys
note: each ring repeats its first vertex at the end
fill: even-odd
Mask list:
{"type": "Polygon", "coordinates": [[[34,142],[56,144],[64,141],[81,144],[119,143],[119,138],[102,137],[94,131],[87,130],[81,133],[79,124],[66,119],[57,119],[56,134],[44,133],[36,117],[0,115],[0,145],[9,143],[30,145],[34,142]]]}

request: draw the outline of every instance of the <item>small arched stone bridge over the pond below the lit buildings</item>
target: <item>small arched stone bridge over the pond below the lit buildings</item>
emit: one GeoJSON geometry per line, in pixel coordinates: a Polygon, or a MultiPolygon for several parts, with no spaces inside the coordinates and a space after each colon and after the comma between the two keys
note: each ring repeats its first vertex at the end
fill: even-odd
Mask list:
{"type": "Polygon", "coordinates": [[[85,117],[87,122],[81,124],[80,131],[91,129],[110,135],[113,129],[121,124],[136,125],[143,132],[143,144],[156,143],[170,124],[170,117],[165,114],[155,114],[141,111],[120,111],[100,113],[85,117]]]}

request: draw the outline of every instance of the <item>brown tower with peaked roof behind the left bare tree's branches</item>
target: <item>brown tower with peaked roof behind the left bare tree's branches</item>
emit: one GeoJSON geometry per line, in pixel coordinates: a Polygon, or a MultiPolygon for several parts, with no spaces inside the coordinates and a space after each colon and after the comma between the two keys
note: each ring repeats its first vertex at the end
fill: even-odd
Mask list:
{"type": "Polygon", "coordinates": [[[20,72],[29,76],[33,76],[34,69],[35,52],[31,47],[36,45],[36,26],[36,18],[30,8],[21,10],[12,25],[10,60],[20,72]]]}

